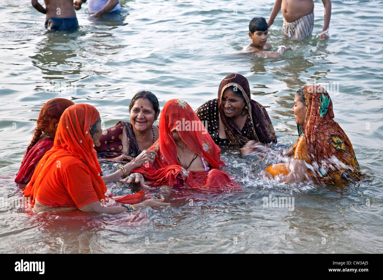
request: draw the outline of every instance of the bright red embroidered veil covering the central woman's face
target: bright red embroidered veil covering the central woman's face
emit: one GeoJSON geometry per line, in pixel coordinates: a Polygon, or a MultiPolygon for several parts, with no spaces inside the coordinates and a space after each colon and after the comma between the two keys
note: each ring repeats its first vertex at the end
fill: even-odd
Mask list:
{"type": "Polygon", "coordinates": [[[138,172],[149,180],[155,180],[154,186],[169,185],[177,189],[183,185],[193,189],[216,190],[240,188],[226,172],[217,169],[225,165],[221,161],[221,149],[211,139],[193,109],[181,99],[172,99],[165,104],[160,116],[159,139],[149,150],[157,151],[154,163],[145,163],[132,173],[138,172]],[[175,129],[191,150],[210,163],[211,169],[188,171],[182,167],[172,136],[175,129]]]}

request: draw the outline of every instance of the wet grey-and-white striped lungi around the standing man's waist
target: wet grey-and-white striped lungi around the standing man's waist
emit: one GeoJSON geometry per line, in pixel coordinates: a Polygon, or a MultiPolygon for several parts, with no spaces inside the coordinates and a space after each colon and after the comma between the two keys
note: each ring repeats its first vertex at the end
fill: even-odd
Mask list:
{"type": "Polygon", "coordinates": [[[314,12],[299,18],[293,22],[287,22],[283,18],[283,34],[290,38],[302,38],[310,36],[314,27],[314,12]]]}

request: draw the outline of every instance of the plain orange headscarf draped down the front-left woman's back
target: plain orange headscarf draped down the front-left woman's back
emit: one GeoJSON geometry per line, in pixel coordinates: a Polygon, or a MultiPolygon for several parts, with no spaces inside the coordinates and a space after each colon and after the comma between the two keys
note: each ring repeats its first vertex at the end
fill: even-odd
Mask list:
{"type": "Polygon", "coordinates": [[[88,104],[75,104],[65,109],[57,127],[53,148],[40,160],[31,181],[23,191],[26,196],[33,198],[33,202],[39,192],[40,182],[45,176],[49,176],[49,167],[56,165],[60,157],[68,155],[75,156],[86,164],[98,199],[105,199],[106,186],[101,178],[97,152],[89,133],[90,126],[96,122],[98,116],[96,108],[88,104]]]}

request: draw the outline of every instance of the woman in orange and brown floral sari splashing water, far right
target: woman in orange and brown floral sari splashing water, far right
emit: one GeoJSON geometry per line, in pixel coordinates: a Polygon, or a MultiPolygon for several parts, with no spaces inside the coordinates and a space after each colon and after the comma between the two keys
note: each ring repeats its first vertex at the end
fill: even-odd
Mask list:
{"type": "MultiPolygon", "coordinates": [[[[298,125],[298,141],[284,154],[293,157],[290,164],[272,164],[269,176],[282,182],[300,182],[311,177],[327,184],[358,181],[362,177],[354,149],[346,133],[334,121],[332,101],[321,86],[304,86],[298,90],[291,111],[298,125]]],[[[243,154],[259,150],[247,143],[243,154]]]]}

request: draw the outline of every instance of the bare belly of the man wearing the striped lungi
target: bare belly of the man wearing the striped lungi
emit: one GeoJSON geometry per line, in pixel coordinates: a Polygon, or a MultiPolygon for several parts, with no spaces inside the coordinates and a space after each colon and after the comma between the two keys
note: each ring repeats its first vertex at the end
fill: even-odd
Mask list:
{"type": "Polygon", "coordinates": [[[287,22],[296,21],[314,11],[313,0],[282,0],[281,10],[287,22]]]}

